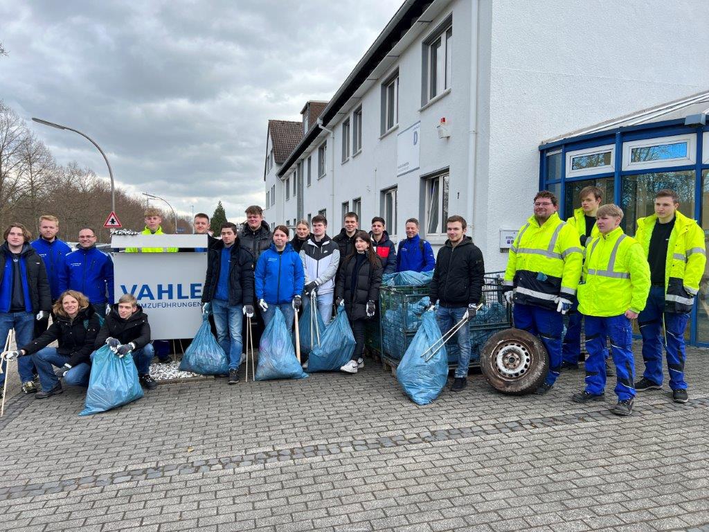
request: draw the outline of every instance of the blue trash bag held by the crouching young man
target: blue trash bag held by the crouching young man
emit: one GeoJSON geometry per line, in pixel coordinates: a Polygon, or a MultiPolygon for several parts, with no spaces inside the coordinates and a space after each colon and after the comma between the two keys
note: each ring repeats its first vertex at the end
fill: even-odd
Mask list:
{"type": "Polygon", "coordinates": [[[143,388],[140,387],[133,355],[128,353],[120,358],[108,345],[104,345],[94,353],[91,361],[86,407],[79,416],[90,416],[115,409],[141,397],[143,388]]]}

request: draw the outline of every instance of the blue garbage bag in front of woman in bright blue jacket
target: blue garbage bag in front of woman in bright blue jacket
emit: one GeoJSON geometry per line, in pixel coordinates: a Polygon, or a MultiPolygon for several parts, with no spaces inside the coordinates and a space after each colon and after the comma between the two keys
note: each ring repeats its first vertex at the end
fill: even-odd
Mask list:
{"type": "Polygon", "coordinates": [[[256,367],[256,380],[305,379],[291,334],[286,327],[286,318],[281,309],[276,307],[276,314],[261,335],[259,343],[259,364],[256,367]]]}

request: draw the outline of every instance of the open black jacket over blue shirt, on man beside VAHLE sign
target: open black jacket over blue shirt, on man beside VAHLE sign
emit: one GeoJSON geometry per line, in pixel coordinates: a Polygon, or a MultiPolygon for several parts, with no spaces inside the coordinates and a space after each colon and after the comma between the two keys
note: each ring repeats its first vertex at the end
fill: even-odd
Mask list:
{"type": "MultiPolygon", "coordinates": [[[[238,238],[231,247],[229,265],[229,306],[254,304],[254,255],[241,245],[238,238]]],[[[202,303],[214,298],[221,271],[221,252],[224,243],[219,241],[207,256],[207,277],[202,291],[202,303]]]]}

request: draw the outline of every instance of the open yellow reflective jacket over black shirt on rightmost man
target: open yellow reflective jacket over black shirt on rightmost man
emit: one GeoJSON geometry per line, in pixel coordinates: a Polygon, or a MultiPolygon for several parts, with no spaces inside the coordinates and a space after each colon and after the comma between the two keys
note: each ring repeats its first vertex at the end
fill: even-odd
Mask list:
{"type": "MultiPolygon", "coordinates": [[[[692,310],[707,257],[702,228],[679,211],[675,211],[675,216],[667,243],[665,311],[682,314],[692,310]]],[[[656,222],[657,214],[637,221],[635,240],[642,245],[645,257],[649,255],[650,237],[656,222]]]]}

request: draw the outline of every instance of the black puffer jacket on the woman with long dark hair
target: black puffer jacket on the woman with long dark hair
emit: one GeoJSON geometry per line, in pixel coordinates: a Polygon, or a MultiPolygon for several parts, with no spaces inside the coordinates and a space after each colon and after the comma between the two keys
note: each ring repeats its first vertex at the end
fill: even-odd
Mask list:
{"type": "Polygon", "coordinates": [[[377,257],[376,267],[365,257],[357,271],[357,286],[352,291],[352,275],[357,266],[357,255],[345,258],[340,271],[337,273],[335,284],[335,299],[345,299],[345,311],[350,321],[368,319],[367,301],[374,301],[379,305],[379,287],[381,287],[381,260],[377,257]]]}

